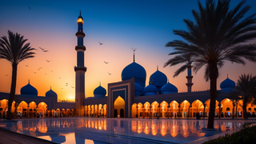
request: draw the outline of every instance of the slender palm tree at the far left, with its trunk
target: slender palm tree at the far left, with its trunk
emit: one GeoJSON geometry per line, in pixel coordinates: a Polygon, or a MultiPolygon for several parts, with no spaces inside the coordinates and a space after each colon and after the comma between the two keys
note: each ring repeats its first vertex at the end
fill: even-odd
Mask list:
{"type": "Polygon", "coordinates": [[[33,58],[34,52],[31,50],[36,50],[30,47],[30,43],[26,43],[27,39],[24,39],[24,36],[16,33],[14,34],[8,30],[9,38],[2,36],[0,38],[0,58],[4,58],[12,64],[12,78],[10,86],[10,96],[8,101],[8,112],[7,120],[11,119],[11,106],[14,101],[15,90],[16,90],[16,81],[17,81],[17,66],[19,62],[26,58],[33,58]]]}

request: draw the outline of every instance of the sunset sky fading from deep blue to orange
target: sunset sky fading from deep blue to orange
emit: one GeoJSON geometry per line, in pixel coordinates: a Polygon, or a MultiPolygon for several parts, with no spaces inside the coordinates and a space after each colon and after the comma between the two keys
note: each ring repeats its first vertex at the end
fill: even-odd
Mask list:
{"type": "MultiPolygon", "coordinates": [[[[203,0],[200,2],[205,4],[203,0]]],[[[230,8],[238,2],[231,1],[230,8]]],[[[252,6],[246,16],[256,13],[256,1],[247,0],[246,5],[252,6]]],[[[158,70],[166,74],[179,92],[187,90],[186,72],[173,78],[174,72],[182,65],[163,66],[173,58],[168,55],[173,48],[166,47],[166,43],[182,39],[174,35],[173,30],[187,30],[183,19],[194,21],[191,10],[198,10],[197,0],[1,0],[0,37],[7,36],[10,30],[24,35],[30,46],[37,49],[34,50],[34,58],[18,64],[16,94],[20,94],[20,89],[30,79],[30,84],[38,90],[38,96],[45,96],[51,86],[59,99],[74,99],[74,66],[77,65],[74,48],[78,44],[75,33],[80,10],[86,34],[86,97],[93,96],[94,89],[100,83],[107,90],[108,83],[122,81],[122,70],[133,62],[131,48],[137,48],[135,62],[146,70],[146,86],[158,66],[158,70]],[[103,44],[99,45],[99,42],[103,44]]],[[[256,63],[252,62],[246,62],[246,66],[225,62],[219,70],[217,89],[220,89],[219,84],[227,78],[227,74],[228,78],[237,82],[241,74],[256,75],[255,67],[256,63]]],[[[10,92],[11,70],[10,62],[0,59],[1,92],[10,92]]],[[[203,68],[192,75],[192,91],[210,89],[210,82],[203,78],[203,68]]]]}

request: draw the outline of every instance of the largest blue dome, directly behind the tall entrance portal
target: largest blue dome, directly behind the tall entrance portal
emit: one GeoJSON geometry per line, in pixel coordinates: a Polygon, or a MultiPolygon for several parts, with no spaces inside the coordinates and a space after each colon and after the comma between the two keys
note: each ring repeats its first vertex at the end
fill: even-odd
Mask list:
{"type": "Polygon", "coordinates": [[[134,82],[140,86],[145,87],[146,70],[136,62],[130,63],[122,70],[122,81],[134,78],[134,82]]]}

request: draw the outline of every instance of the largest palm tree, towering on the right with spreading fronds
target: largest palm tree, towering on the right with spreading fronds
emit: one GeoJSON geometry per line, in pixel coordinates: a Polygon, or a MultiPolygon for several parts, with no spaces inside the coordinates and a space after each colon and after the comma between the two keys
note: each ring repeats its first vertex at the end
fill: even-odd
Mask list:
{"type": "Polygon", "coordinates": [[[230,0],[206,0],[206,7],[198,1],[199,12],[192,10],[194,22],[185,19],[186,30],[174,30],[186,40],[174,40],[166,46],[174,47],[175,59],[183,54],[191,54],[194,71],[205,66],[206,82],[210,79],[210,113],[207,128],[214,128],[214,110],[217,97],[218,69],[224,61],[245,65],[246,60],[256,62],[256,46],[246,42],[256,38],[256,19],[252,14],[244,19],[250,6],[242,1],[230,10],[230,0]]]}

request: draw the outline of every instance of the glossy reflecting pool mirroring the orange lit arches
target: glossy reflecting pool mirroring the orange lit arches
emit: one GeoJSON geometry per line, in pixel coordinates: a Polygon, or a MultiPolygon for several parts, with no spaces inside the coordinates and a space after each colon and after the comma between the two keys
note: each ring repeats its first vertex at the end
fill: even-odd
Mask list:
{"type": "MultiPolygon", "coordinates": [[[[244,120],[138,118],[25,118],[0,120],[6,130],[58,143],[188,143],[228,130],[240,130],[244,120]]],[[[246,121],[250,122],[250,121],[246,121]]]]}

